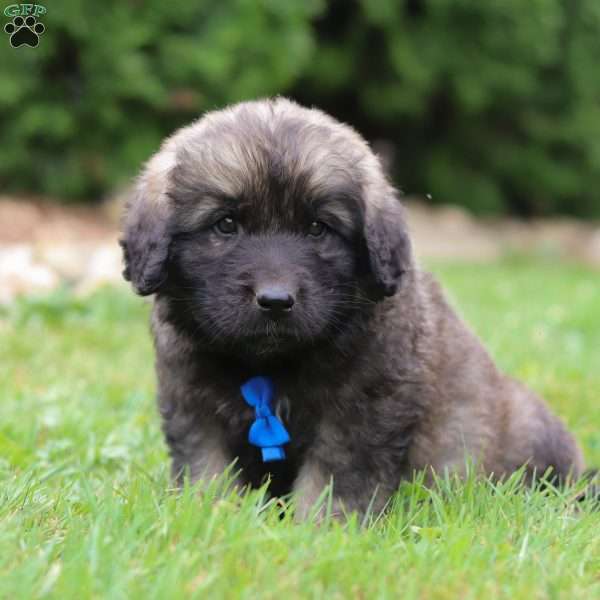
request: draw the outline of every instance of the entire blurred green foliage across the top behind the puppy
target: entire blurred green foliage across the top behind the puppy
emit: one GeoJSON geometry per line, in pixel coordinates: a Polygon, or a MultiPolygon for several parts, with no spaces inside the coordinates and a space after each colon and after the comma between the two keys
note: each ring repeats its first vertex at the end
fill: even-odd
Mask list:
{"type": "Polygon", "coordinates": [[[600,216],[597,0],[46,7],[37,48],[0,44],[3,191],[99,199],[203,111],[286,94],[391,142],[408,193],[600,216]]]}

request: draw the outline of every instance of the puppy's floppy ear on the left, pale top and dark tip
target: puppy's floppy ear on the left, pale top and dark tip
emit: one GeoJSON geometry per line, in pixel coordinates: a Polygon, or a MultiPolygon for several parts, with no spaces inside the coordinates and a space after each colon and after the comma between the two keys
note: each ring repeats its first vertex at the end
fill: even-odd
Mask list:
{"type": "Polygon", "coordinates": [[[120,240],[123,277],[141,296],[158,291],[167,279],[171,209],[166,188],[171,160],[161,153],[150,160],[125,209],[120,240]]]}

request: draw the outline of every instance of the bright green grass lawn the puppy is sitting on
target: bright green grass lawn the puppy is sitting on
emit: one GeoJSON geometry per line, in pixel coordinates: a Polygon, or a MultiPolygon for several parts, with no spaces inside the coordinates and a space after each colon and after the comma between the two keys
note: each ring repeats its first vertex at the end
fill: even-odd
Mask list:
{"type": "MultiPolygon", "coordinates": [[[[598,274],[434,270],[600,465],[598,274]]],[[[368,527],[296,525],[264,490],[170,492],[147,316],[117,289],[0,312],[0,598],[600,597],[600,513],[560,492],[409,482],[368,527]]]]}

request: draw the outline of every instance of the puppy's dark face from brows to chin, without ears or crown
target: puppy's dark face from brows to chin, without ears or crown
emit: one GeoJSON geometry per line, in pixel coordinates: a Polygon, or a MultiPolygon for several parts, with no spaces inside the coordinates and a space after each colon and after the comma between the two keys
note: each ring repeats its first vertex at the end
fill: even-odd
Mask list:
{"type": "Polygon", "coordinates": [[[342,200],[281,198],[289,190],[270,183],[205,198],[171,246],[171,289],[199,330],[259,355],[332,336],[360,298],[352,211],[342,200]]]}

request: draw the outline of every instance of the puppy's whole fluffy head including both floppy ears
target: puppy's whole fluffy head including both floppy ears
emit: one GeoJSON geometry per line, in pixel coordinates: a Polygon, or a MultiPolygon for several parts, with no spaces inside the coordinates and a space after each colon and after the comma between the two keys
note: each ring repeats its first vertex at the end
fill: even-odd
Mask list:
{"type": "Polygon", "coordinates": [[[411,267],[400,202],[350,127],[285,99],[209,113],[139,178],[125,277],[204,342],[256,354],[331,340],[411,267]]]}

